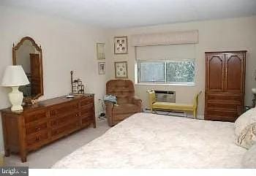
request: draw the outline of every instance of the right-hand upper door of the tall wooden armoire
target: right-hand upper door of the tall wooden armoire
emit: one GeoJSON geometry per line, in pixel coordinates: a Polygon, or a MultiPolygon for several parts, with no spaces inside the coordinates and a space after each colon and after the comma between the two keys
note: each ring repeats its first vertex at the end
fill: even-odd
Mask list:
{"type": "Polygon", "coordinates": [[[244,91],[244,53],[225,54],[225,91],[243,93],[244,91]]]}

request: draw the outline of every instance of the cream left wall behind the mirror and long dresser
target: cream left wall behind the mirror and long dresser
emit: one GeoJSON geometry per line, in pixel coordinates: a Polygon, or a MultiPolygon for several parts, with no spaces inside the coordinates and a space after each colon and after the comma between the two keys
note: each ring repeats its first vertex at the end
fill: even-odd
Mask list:
{"type": "MultiPolygon", "coordinates": [[[[107,32],[103,28],[72,23],[53,16],[0,7],[0,80],[5,67],[12,64],[12,43],[17,44],[21,38],[29,36],[42,45],[45,95],[40,99],[69,93],[71,70],[75,71],[75,77],[83,80],[86,93],[96,93],[96,100],[102,98],[106,77],[98,74],[96,42],[105,42],[108,51],[107,32]]],[[[0,109],[10,107],[7,98],[9,91],[9,88],[0,87],[0,109]]],[[[1,150],[4,150],[2,130],[1,150]]]]}

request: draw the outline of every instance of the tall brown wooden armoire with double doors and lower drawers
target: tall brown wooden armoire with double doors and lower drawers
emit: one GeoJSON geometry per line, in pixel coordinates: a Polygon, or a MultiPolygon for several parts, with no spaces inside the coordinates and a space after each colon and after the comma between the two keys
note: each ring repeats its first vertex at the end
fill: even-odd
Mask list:
{"type": "Polygon", "coordinates": [[[246,50],[206,52],[206,120],[234,122],[244,111],[246,50]]]}

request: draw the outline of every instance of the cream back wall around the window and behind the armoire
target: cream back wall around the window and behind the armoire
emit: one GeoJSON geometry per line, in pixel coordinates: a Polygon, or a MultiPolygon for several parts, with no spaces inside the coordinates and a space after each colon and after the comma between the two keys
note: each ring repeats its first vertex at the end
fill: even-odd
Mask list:
{"type": "MultiPolygon", "coordinates": [[[[256,16],[249,18],[231,18],[225,20],[207,20],[191,23],[175,23],[162,26],[147,26],[141,28],[121,28],[112,31],[110,42],[115,36],[129,36],[132,34],[146,34],[165,31],[199,31],[199,43],[196,47],[196,85],[195,86],[163,86],[163,85],[136,85],[136,94],[143,99],[144,107],[147,106],[149,88],[176,91],[176,102],[189,103],[197,91],[205,88],[205,52],[218,50],[247,50],[246,60],[246,99],[247,105],[252,104],[251,88],[256,87],[254,72],[256,69],[256,16]]],[[[111,45],[113,47],[113,45],[111,45]]],[[[113,49],[112,49],[113,51],[113,49]]],[[[184,51],[186,52],[186,51],[184,51]]],[[[113,55],[109,63],[108,78],[113,79],[114,61],[128,61],[129,79],[135,80],[135,47],[129,45],[127,55],[113,55]]],[[[204,93],[203,93],[204,94],[204,93]]],[[[200,116],[204,113],[204,95],[200,97],[200,116]]]]}

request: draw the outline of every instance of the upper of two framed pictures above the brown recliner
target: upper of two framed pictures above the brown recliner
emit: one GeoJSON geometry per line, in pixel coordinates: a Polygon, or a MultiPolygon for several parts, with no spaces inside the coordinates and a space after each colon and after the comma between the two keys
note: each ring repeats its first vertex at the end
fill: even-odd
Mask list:
{"type": "Polygon", "coordinates": [[[114,54],[128,54],[127,36],[114,37],[114,54]]]}

